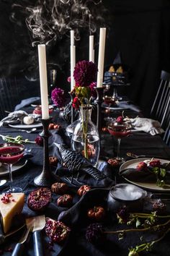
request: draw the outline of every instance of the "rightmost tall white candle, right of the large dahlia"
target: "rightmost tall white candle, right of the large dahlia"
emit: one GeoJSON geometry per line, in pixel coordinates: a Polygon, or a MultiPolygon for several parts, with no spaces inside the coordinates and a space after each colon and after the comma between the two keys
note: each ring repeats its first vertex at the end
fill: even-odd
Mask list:
{"type": "Polygon", "coordinates": [[[99,33],[97,87],[102,87],[102,84],[103,84],[105,40],[106,40],[106,27],[101,27],[100,33],[99,33]]]}

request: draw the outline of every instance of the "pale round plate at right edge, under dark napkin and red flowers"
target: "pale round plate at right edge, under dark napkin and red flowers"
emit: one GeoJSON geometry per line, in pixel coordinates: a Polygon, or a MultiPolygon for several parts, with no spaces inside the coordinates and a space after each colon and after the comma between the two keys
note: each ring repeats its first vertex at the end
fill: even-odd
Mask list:
{"type": "MultiPolygon", "coordinates": [[[[138,163],[146,161],[146,160],[151,160],[151,159],[152,158],[138,158],[138,159],[129,160],[125,163],[122,163],[122,165],[120,166],[120,171],[127,169],[127,168],[136,168],[138,163]]],[[[168,160],[154,158],[154,160],[155,159],[160,160],[161,163],[169,163],[168,160]]],[[[127,180],[128,182],[130,182],[131,184],[134,184],[139,187],[143,187],[144,189],[149,189],[149,190],[153,190],[153,191],[161,191],[161,192],[169,192],[170,191],[170,184],[166,184],[165,187],[158,187],[158,186],[156,186],[156,182],[142,182],[142,181],[141,182],[133,182],[125,177],[123,177],[123,178],[125,180],[127,180]]]]}

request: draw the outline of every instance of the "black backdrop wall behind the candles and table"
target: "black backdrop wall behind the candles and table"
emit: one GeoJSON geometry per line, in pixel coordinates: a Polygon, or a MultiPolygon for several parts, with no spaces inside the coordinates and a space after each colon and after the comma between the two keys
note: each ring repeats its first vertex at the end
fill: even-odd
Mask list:
{"type": "MultiPolygon", "coordinates": [[[[55,27],[52,31],[55,40],[50,41],[48,33],[36,38],[28,29],[25,20],[32,14],[32,9],[42,6],[44,12],[42,17],[46,15],[49,20],[53,2],[53,0],[0,0],[0,100],[7,101],[3,105],[1,103],[1,108],[12,111],[22,98],[40,95],[37,43],[48,42],[48,72],[50,69],[57,69],[56,85],[66,91],[69,90],[70,85],[67,82],[70,73],[69,26],[79,28],[79,33],[76,35],[79,39],[76,40],[76,61],[89,58],[89,20],[87,19],[89,14],[84,16],[84,22],[80,18],[81,4],[86,4],[92,15],[95,61],[98,54],[99,27],[106,26],[105,68],[112,64],[120,51],[122,62],[129,68],[131,83],[127,88],[120,89],[120,93],[128,95],[147,116],[158,88],[161,69],[170,72],[170,2],[168,0],[103,0],[102,4],[96,5],[93,1],[76,1],[81,4],[75,9],[73,1],[68,1],[70,5],[67,5],[67,8],[62,10],[60,9],[62,5],[58,7],[59,14],[70,12],[71,15],[69,19],[67,18],[67,26],[63,26],[61,33],[59,27],[55,27]],[[80,12],[78,16],[75,10],[77,13],[80,12]],[[77,17],[80,19],[79,22],[76,22],[77,17]]],[[[61,3],[60,0],[57,2],[61,3]]],[[[50,22],[48,27],[52,27],[50,22]]]]}

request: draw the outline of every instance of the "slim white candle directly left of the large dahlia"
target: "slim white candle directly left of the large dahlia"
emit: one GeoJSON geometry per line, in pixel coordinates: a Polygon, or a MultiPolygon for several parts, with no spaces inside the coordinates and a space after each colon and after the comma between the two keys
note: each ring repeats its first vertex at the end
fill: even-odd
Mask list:
{"type": "Polygon", "coordinates": [[[75,80],[73,77],[74,67],[76,66],[76,46],[74,46],[74,31],[71,30],[71,90],[75,85],[75,80]]]}

